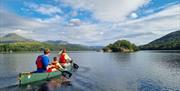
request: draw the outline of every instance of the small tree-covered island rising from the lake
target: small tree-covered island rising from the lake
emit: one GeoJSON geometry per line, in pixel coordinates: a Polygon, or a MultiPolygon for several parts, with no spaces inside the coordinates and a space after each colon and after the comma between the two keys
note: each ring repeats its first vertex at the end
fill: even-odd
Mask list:
{"type": "Polygon", "coordinates": [[[127,40],[118,40],[103,48],[104,52],[135,52],[137,50],[138,47],[127,40]]]}

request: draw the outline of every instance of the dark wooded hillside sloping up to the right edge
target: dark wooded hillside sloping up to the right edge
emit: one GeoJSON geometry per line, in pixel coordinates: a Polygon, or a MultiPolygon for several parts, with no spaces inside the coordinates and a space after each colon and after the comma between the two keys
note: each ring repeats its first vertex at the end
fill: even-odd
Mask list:
{"type": "Polygon", "coordinates": [[[169,33],[139,48],[141,50],[180,50],[180,30],[169,33]]]}

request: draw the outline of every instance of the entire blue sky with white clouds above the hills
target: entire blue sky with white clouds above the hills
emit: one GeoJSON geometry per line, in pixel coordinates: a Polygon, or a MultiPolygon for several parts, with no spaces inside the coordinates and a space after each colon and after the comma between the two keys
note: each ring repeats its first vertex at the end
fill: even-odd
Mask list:
{"type": "Polygon", "coordinates": [[[0,0],[0,36],[143,45],[177,30],[179,0],[0,0]]]}

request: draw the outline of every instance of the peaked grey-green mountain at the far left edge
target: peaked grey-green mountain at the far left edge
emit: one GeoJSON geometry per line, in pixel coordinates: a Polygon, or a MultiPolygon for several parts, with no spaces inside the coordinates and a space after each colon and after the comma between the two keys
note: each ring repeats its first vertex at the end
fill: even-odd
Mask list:
{"type": "Polygon", "coordinates": [[[33,41],[31,39],[24,38],[16,33],[9,33],[0,38],[0,43],[15,43],[15,42],[27,42],[33,41]]]}

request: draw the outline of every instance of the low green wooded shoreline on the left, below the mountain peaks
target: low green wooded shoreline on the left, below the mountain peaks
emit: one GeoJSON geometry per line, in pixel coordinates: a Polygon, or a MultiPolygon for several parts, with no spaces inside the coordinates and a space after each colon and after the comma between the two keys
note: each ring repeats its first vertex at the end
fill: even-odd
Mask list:
{"type": "Polygon", "coordinates": [[[75,44],[53,45],[42,42],[16,42],[0,44],[0,52],[41,51],[42,48],[49,48],[52,51],[59,51],[62,48],[66,48],[70,51],[90,50],[84,46],[75,44]]]}

